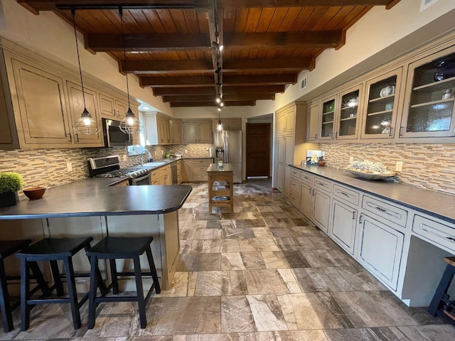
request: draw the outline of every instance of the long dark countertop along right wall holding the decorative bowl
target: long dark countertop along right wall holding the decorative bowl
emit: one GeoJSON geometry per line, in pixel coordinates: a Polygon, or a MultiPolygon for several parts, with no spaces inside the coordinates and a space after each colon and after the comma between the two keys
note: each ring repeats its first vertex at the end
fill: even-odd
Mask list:
{"type": "Polygon", "coordinates": [[[455,196],[403,185],[387,180],[364,180],[343,169],[319,166],[289,165],[301,171],[320,175],[365,193],[370,193],[397,204],[424,212],[455,224],[455,196]]]}

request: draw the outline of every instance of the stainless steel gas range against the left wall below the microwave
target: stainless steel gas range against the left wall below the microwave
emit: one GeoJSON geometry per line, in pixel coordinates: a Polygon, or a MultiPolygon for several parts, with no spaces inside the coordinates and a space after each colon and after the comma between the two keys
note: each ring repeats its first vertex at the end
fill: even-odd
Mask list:
{"type": "Polygon", "coordinates": [[[90,178],[129,178],[130,185],[151,185],[150,170],[135,166],[120,168],[120,156],[105,156],[102,158],[87,158],[90,178]]]}

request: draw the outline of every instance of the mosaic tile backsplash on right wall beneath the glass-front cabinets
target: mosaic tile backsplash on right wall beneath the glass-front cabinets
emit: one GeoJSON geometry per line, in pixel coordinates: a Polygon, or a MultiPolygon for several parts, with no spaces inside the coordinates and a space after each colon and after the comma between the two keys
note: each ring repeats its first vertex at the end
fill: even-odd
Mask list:
{"type": "Polygon", "coordinates": [[[354,160],[381,162],[395,171],[395,181],[437,192],[455,194],[455,144],[319,144],[326,152],[326,166],[345,168],[354,160]]]}

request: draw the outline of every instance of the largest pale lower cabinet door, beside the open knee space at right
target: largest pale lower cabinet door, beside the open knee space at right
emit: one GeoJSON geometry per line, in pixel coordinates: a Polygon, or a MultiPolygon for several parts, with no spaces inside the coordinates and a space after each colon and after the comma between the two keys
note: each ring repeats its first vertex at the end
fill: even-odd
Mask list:
{"type": "Polygon", "coordinates": [[[383,283],[397,290],[404,234],[368,215],[360,215],[356,259],[383,283]]]}

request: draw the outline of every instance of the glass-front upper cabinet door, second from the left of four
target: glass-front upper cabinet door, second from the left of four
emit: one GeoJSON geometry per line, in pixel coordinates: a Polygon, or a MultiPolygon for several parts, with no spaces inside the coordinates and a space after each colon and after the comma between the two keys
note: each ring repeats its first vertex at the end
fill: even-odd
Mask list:
{"type": "Polygon", "coordinates": [[[340,94],[340,111],[338,115],[335,139],[357,139],[358,115],[361,113],[359,102],[361,85],[340,94]]]}

